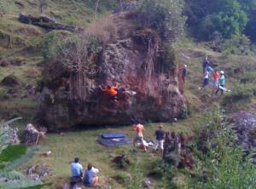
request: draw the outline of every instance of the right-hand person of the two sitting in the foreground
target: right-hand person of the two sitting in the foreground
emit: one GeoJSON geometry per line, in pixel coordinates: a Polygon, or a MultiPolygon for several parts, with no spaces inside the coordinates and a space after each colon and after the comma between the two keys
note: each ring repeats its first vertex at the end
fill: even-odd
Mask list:
{"type": "Polygon", "coordinates": [[[99,177],[96,173],[99,172],[91,163],[88,164],[87,169],[84,171],[84,186],[96,186],[99,182],[99,177]]]}

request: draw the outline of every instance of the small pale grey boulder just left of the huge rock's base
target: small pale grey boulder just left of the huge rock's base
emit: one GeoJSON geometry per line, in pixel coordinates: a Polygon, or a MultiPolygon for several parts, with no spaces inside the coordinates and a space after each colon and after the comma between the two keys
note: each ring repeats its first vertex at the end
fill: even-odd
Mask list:
{"type": "Polygon", "coordinates": [[[23,134],[23,143],[27,146],[34,146],[38,144],[39,131],[36,129],[32,123],[26,125],[26,129],[23,134]]]}

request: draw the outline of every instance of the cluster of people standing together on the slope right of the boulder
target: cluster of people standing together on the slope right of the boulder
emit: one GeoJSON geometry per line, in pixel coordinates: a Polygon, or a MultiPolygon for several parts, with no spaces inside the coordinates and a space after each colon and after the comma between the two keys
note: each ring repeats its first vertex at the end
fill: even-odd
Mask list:
{"type": "Polygon", "coordinates": [[[210,61],[208,60],[208,55],[202,61],[202,71],[203,71],[203,84],[202,87],[205,88],[212,77],[212,95],[218,94],[220,91],[221,94],[224,94],[225,87],[225,76],[224,71],[219,69],[213,70],[210,66],[210,61]]]}

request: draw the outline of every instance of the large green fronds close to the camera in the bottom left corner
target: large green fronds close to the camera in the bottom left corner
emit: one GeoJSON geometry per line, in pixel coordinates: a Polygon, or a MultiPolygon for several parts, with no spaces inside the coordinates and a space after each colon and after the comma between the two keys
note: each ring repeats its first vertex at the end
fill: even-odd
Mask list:
{"type": "Polygon", "coordinates": [[[4,178],[4,180],[0,180],[0,188],[40,189],[43,186],[49,186],[39,180],[30,180],[26,178],[26,175],[15,170],[27,163],[38,150],[37,147],[27,149],[24,145],[12,145],[13,129],[9,127],[9,123],[17,119],[19,118],[0,124],[0,177],[4,178]]]}

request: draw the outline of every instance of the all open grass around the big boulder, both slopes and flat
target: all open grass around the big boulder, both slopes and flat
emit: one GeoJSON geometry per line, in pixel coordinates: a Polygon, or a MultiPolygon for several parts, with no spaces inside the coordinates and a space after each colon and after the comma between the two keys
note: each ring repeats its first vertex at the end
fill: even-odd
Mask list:
{"type": "MultiPolygon", "coordinates": [[[[82,26],[90,25],[94,14],[93,0],[45,0],[47,4],[44,14],[55,17],[61,24],[82,26]]],[[[110,11],[117,8],[117,1],[104,0],[100,4],[100,15],[108,15],[110,11]]],[[[28,94],[26,85],[36,85],[41,77],[44,66],[44,59],[41,54],[41,42],[49,32],[38,26],[25,25],[17,18],[20,12],[39,15],[39,1],[24,0],[15,1],[0,0],[0,62],[6,60],[7,66],[0,66],[0,81],[3,77],[13,74],[20,79],[20,85],[15,87],[15,95],[8,93],[9,87],[0,85],[0,118],[24,117],[24,122],[32,122],[36,113],[37,96],[28,94]],[[15,2],[20,2],[15,3],[15,2]],[[23,62],[20,66],[11,63],[12,60],[23,62]]],[[[99,16],[100,16],[99,15],[99,16]]],[[[256,100],[256,57],[225,55],[213,52],[206,44],[192,43],[181,40],[176,44],[177,54],[180,62],[188,65],[188,77],[185,84],[185,94],[189,104],[189,118],[179,121],[174,127],[165,123],[167,131],[175,130],[189,135],[194,134],[194,129],[200,125],[202,113],[207,112],[213,102],[219,102],[228,111],[239,109],[248,110],[252,108],[256,100]],[[182,58],[182,55],[188,59],[182,58]],[[211,55],[214,65],[226,73],[227,88],[232,90],[230,94],[212,97],[211,86],[201,89],[201,60],[205,54],[211,55]],[[237,69],[241,72],[236,73],[237,69]]],[[[23,125],[24,126],[24,125],[23,125]]],[[[157,124],[146,125],[146,138],[154,139],[154,130],[157,124]]],[[[131,127],[121,128],[100,128],[88,129],[79,132],[70,132],[67,135],[49,134],[41,141],[41,149],[32,158],[29,164],[47,163],[54,169],[51,176],[45,178],[47,182],[53,182],[52,188],[59,188],[69,178],[69,163],[75,156],[81,159],[84,167],[88,162],[95,163],[100,169],[101,185],[112,186],[113,188],[127,188],[130,184],[129,178],[135,174],[136,163],[138,162],[139,172],[143,177],[148,176],[152,163],[160,159],[159,155],[138,152],[134,156],[129,152],[131,146],[119,148],[104,148],[96,143],[96,139],[102,132],[122,130],[129,137],[133,136],[131,127]],[[45,151],[51,151],[49,158],[42,156],[45,151]],[[131,166],[127,169],[118,169],[110,163],[109,159],[113,154],[128,153],[131,159],[131,166]],[[127,181],[128,180],[128,181],[127,181]]],[[[186,179],[182,172],[177,172],[177,186],[183,188],[186,179]],[[180,179],[183,178],[183,179],[180,179]]],[[[165,187],[166,181],[154,180],[155,188],[165,187]]]]}

